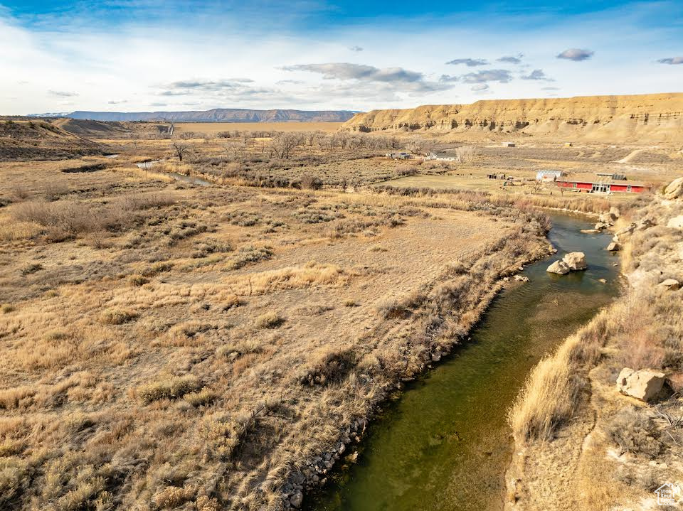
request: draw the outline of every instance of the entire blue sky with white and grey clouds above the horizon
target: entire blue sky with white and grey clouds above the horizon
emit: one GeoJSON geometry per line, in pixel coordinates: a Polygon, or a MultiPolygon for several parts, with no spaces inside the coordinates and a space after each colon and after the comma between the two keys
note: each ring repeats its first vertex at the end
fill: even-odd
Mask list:
{"type": "Polygon", "coordinates": [[[683,92],[683,1],[0,0],[0,114],[683,92]]]}

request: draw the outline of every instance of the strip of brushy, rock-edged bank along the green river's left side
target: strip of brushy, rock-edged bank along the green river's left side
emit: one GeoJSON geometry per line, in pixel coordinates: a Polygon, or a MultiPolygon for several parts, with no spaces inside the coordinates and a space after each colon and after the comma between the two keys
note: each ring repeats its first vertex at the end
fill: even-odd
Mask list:
{"type": "MultiPolygon", "coordinates": [[[[398,334],[404,347],[391,353],[383,350],[381,355],[376,355],[383,360],[377,360],[373,367],[363,371],[362,380],[372,382],[376,391],[364,398],[364,412],[354,416],[350,424],[342,425],[338,436],[327,442],[332,449],[314,452],[290,475],[283,487],[287,507],[299,507],[305,493],[325,485],[337,461],[345,458],[344,463],[354,463],[358,451],[349,444],[361,442],[367,424],[381,413],[388,399],[469,341],[470,330],[492,300],[506,285],[512,284],[505,281],[509,276],[519,273],[525,264],[554,252],[545,238],[548,226],[544,215],[512,209],[500,210],[497,215],[526,218],[526,225],[516,235],[498,240],[485,252],[452,262],[437,279],[423,283],[419,291],[378,308],[384,318],[409,323],[401,327],[402,333],[396,329],[403,323],[399,321],[393,325],[386,323],[372,335],[384,338],[398,334]]],[[[355,405],[356,409],[361,409],[359,404],[355,405]]],[[[309,505],[309,502],[303,503],[309,505]]]]}

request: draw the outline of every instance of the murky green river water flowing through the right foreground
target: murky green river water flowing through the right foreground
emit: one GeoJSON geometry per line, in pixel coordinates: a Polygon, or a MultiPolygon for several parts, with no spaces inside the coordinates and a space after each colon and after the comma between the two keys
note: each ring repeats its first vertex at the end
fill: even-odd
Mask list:
{"type": "Polygon", "coordinates": [[[531,367],[618,294],[617,259],[605,251],[611,235],[581,234],[592,227],[583,218],[551,217],[558,254],[526,268],[531,281],[502,292],[469,343],[384,407],[357,462],[308,497],[308,510],[502,508],[507,409],[531,367]],[[548,274],[566,252],[585,252],[588,270],[548,274]]]}

